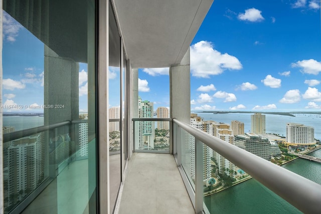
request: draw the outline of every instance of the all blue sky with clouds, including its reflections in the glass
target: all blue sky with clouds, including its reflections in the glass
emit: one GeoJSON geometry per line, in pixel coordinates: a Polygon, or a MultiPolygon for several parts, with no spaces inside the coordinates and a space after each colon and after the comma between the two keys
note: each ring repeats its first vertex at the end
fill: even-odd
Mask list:
{"type": "MultiPolygon", "coordinates": [[[[215,0],[191,44],[191,109],[320,110],[320,18],[319,0],[215,0]]],[[[3,70],[3,104],[44,103],[44,45],[6,13],[3,70]]],[[[109,72],[119,88],[119,71],[109,72]]],[[[168,68],[139,69],[138,82],[154,109],[170,106],[168,68]]],[[[86,64],[79,94],[87,111],[86,64]]],[[[119,94],[109,97],[119,106],[119,94]]]]}

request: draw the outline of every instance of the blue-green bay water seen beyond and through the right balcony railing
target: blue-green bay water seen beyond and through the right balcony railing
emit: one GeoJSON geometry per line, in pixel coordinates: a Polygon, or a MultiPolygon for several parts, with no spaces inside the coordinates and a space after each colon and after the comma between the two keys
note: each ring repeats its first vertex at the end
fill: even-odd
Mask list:
{"type": "MultiPolygon", "coordinates": [[[[244,122],[245,132],[251,129],[251,114],[198,113],[204,120],[230,124],[232,120],[244,122]]],[[[296,117],[266,114],[266,133],[285,136],[286,123],[301,123],[314,127],[315,138],[321,139],[321,118],[313,114],[297,114],[296,117]]],[[[321,157],[321,149],[309,155],[321,157]]],[[[282,167],[321,184],[321,164],[305,159],[295,159],[282,167]]],[[[279,179],[275,177],[275,180],[279,179]]],[[[294,187],[295,188],[295,187],[294,187]]],[[[303,198],[302,198],[303,199],[303,198]]],[[[204,197],[211,213],[301,213],[294,206],[263,186],[255,179],[239,183],[221,192],[204,197]]]]}

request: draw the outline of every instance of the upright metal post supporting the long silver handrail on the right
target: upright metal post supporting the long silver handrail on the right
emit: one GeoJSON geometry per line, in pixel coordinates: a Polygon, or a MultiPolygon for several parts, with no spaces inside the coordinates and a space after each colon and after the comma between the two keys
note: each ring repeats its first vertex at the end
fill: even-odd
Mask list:
{"type": "Polygon", "coordinates": [[[203,143],[195,139],[195,212],[203,211],[203,143]]]}

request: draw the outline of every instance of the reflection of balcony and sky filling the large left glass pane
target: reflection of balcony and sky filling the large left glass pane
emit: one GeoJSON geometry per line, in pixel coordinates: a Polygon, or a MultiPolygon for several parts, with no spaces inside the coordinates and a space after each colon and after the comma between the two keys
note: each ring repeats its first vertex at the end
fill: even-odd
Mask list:
{"type": "Polygon", "coordinates": [[[61,3],[3,2],[5,213],[96,212],[95,5],[61,3]]]}

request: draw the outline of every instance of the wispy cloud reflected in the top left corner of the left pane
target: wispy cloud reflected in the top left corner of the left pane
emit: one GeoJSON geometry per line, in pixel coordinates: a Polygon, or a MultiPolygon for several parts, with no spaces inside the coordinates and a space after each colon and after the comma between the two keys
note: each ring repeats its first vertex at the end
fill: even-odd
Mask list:
{"type": "Polygon", "coordinates": [[[15,42],[18,36],[19,30],[22,28],[15,19],[13,19],[5,11],[3,12],[3,36],[4,40],[9,42],[15,42]]]}

